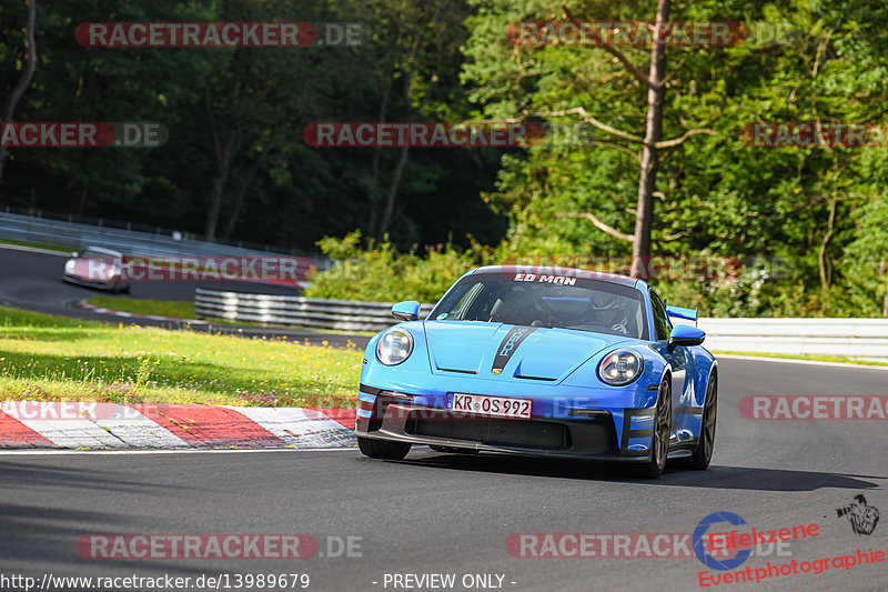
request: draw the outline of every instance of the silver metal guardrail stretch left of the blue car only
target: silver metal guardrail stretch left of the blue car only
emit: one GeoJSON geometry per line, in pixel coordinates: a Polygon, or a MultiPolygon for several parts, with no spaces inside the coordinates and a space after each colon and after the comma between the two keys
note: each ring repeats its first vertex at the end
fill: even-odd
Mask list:
{"type": "MultiPolygon", "coordinates": [[[[423,304],[420,317],[431,311],[432,304],[423,304]]],[[[194,291],[194,315],[198,319],[291,324],[339,331],[382,331],[400,322],[392,317],[392,303],[386,302],[244,294],[200,288],[194,291]]]]}

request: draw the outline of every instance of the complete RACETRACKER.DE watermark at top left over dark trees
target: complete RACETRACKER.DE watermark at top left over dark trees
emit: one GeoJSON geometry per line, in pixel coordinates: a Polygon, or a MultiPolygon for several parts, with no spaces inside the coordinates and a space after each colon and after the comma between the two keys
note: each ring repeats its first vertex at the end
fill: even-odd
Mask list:
{"type": "Polygon", "coordinates": [[[362,22],[83,22],[74,30],[88,48],[354,47],[369,39],[362,22]]]}

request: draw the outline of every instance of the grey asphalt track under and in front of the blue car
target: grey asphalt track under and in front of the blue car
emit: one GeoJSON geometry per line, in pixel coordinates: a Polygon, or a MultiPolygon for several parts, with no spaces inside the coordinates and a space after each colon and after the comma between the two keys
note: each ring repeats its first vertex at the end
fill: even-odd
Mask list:
{"type": "MultiPolygon", "coordinates": [[[[738,403],[747,394],[884,394],[888,371],[736,359],[720,368],[712,468],[667,469],[658,481],[606,465],[426,448],[402,462],[373,461],[356,450],[0,455],[0,573],[307,573],[311,590],[330,591],[395,590],[393,580],[384,585],[385,574],[404,573],[453,573],[453,590],[466,590],[465,574],[500,574],[503,589],[516,591],[694,590],[704,566],[693,556],[514,558],[506,541],[513,533],[690,533],[716,511],[759,530],[819,525],[817,536],[783,551],[791,558],[773,550],[750,558],[746,565],[754,569],[887,550],[888,523],[858,535],[836,516],[858,493],[888,511],[884,422],[749,421],[738,403]],[[327,545],[335,551],[340,540],[361,539],[353,549],[360,556],[352,558],[79,556],[78,539],[99,533],[301,533],[314,536],[325,555],[327,545]]],[[[885,590],[888,575],[886,563],[877,563],[730,584],[750,588],[885,590]]]]}

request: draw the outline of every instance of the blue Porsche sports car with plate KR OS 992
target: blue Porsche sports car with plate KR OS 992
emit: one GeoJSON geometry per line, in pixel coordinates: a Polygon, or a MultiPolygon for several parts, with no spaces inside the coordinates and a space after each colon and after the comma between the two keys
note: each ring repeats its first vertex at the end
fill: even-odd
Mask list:
{"type": "Polygon", "coordinates": [[[425,320],[371,339],[361,369],[361,452],[403,459],[412,444],[706,469],[718,364],[696,310],[667,307],[643,280],[597,271],[494,265],[470,271],[425,320]]]}

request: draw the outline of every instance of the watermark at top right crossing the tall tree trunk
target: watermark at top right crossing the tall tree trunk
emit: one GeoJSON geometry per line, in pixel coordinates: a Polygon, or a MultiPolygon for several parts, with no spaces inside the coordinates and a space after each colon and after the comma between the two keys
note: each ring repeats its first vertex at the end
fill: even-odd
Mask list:
{"type": "Polygon", "coordinates": [[[518,21],[506,27],[513,46],[715,46],[743,43],[739,21],[518,21]]]}

